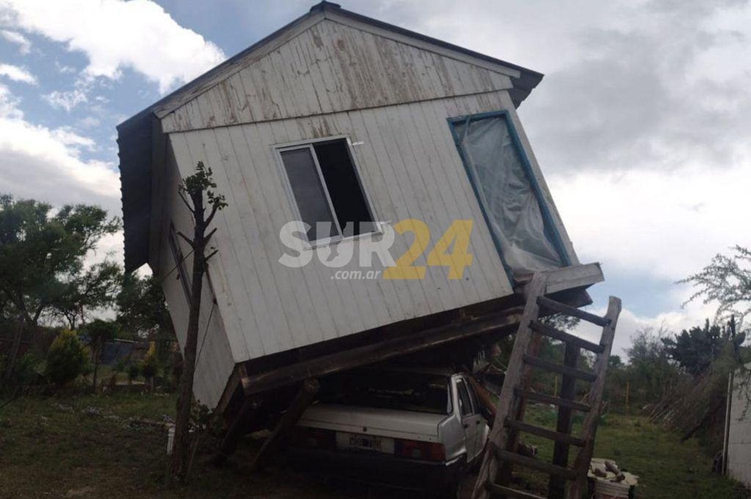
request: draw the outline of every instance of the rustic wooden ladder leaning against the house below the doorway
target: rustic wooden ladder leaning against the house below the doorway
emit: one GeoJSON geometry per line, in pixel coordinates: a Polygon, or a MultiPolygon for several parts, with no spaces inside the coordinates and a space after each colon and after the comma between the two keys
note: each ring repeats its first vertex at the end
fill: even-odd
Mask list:
{"type": "Polygon", "coordinates": [[[602,410],[602,392],[605,388],[605,371],[615,327],[620,314],[620,299],[611,296],[605,317],[546,298],[547,275],[538,273],[524,287],[526,305],[514,340],[514,349],[497,404],[493,429],[488,437],[487,451],[472,491],[472,499],[508,497],[509,499],[543,499],[511,487],[511,471],[514,465],[546,473],[550,476],[547,497],[549,499],[580,499],[587,489],[587,471],[592,459],[597,423],[602,410]],[[545,325],[539,320],[540,311],[562,313],[602,326],[599,344],[592,343],[559,329],[545,325]],[[566,345],[563,364],[537,357],[542,336],[562,341],[566,345]],[[581,349],[596,354],[592,371],[581,370],[577,360],[581,349]],[[559,396],[553,397],[532,392],[529,389],[532,368],[544,369],[562,375],[559,396]],[[587,404],[575,401],[575,383],[584,380],[590,385],[587,404]],[[556,430],[540,428],[523,422],[527,401],[553,404],[558,407],[556,430]],[[572,435],[572,413],[586,413],[584,428],[579,436],[572,435]],[[533,434],[554,441],[553,462],[539,461],[517,453],[520,433],[533,434]],[[569,467],[569,448],[579,448],[572,467],[569,467]]]}

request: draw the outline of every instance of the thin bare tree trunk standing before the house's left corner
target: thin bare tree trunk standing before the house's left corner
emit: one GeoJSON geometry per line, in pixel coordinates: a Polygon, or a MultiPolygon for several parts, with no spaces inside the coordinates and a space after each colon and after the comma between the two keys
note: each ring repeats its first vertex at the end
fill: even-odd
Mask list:
{"type": "Polygon", "coordinates": [[[185,349],[182,353],[183,367],[177,396],[177,416],[175,419],[175,438],[170,463],[170,480],[184,482],[190,462],[190,413],[193,400],[193,377],[195,375],[195,358],[198,348],[198,319],[201,313],[201,291],[206,272],[206,246],[203,192],[191,195],[193,201],[195,226],[193,231],[193,270],[190,295],[190,313],[188,332],[185,335],[185,349]]]}

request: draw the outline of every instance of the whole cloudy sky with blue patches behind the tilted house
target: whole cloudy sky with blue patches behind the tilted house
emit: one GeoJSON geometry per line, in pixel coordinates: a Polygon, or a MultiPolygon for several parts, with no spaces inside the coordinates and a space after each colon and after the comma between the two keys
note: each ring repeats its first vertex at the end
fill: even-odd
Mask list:
{"type": "MultiPolygon", "coordinates": [[[[119,214],[116,124],[311,5],[0,0],[0,192],[119,214]]],[[[674,282],[751,246],[749,2],[342,7],[546,75],[520,115],[580,259],[605,269],[591,308],[623,298],[617,349],[712,316],[674,282]]]]}

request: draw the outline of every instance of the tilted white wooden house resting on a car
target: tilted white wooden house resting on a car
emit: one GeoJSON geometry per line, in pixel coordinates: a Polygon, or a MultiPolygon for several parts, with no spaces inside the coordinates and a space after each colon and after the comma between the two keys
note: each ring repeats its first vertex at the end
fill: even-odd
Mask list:
{"type": "Polygon", "coordinates": [[[534,271],[572,269],[549,292],[601,280],[578,265],[517,116],[541,78],[322,2],[123,122],[125,267],[162,279],[178,335],[192,261],[179,182],[204,162],[228,201],[197,398],[223,410],[243,387],[482,338],[518,320],[514,288],[534,271]],[[285,238],[296,220],[310,228],[285,238]],[[389,237],[395,262],[363,265],[363,243],[389,237]]]}

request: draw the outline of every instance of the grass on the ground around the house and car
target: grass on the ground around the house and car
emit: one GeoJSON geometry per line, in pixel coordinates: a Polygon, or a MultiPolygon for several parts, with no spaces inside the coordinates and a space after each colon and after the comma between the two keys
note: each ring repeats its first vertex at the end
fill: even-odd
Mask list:
{"type": "MultiPolygon", "coordinates": [[[[321,481],[283,467],[251,474],[248,464],[258,440],[240,446],[221,469],[199,458],[191,484],[165,489],[164,428],[131,425],[128,418],[161,421],[174,411],[166,395],[22,398],[0,409],[0,497],[155,499],[164,497],[411,497],[362,485],[321,481]],[[98,409],[88,410],[89,407],[98,409]],[[91,414],[93,413],[93,414],[91,414]]],[[[529,410],[533,422],[550,427],[549,410],[529,410]]],[[[540,458],[550,458],[547,440],[529,437],[540,458]]],[[[737,483],[710,472],[711,458],[695,440],[679,438],[646,419],[608,415],[600,426],[596,457],[613,458],[640,477],[636,497],[740,499],[737,483]]]]}

